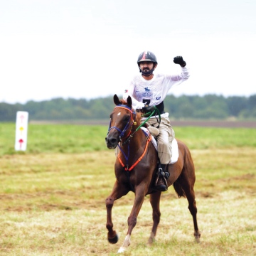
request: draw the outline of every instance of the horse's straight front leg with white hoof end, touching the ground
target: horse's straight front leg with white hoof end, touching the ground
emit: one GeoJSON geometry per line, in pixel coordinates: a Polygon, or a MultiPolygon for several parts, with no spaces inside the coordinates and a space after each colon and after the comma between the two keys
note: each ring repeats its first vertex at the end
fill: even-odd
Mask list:
{"type": "Polygon", "coordinates": [[[135,225],[137,224],[137,216],[139,215],[139,210],[142,208],[142,204],[144,202],[145,195],[146,195],[146,193],[145,193],[144,185],[137,186],[137,188],[135,188],[134,205],[132,207],[132,211],[128,218],[127,236],[124,239],[122,247],[119,248],[118,253],[124,252],[124,250],[126,250],[127,247],[130,245],[132,230],[135,227],[135,225]]]}

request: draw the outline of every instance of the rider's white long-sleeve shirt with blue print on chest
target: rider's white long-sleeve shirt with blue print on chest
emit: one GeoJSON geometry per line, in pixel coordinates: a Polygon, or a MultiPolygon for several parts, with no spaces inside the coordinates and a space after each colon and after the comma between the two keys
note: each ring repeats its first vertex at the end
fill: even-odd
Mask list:
{"type": "Polygon", "coordinates": [[[189,75],[186,67],[181,68],[178,75],[156,74],[151,80],[145,80],[142,74],[136,75],[129,87],[124,90],[123,98],[127,100],[128,96],[132,97],[132,107],[135,110],[141,110],[148,101],[150,106],[159,105],[171,87],[188,80],[189,75]]]}

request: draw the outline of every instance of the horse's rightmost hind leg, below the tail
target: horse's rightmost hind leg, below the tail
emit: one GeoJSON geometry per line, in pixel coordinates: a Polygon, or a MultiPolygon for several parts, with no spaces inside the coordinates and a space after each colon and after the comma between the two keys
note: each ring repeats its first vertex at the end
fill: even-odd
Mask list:
{"type": "Polygon", "coordinates": [[[194,225],[194,237],[196,242],[200,242],[201,233],[198,230],[198,223],[197,223],[197,208],[196,208],[196,196],[195,191],[193,190],[194,183],[196,181],[195,174],[180,177],[179,182],[181,182],[181,186],[183,191],[185,192],[186,198],[188,199],[188,209],[193,217],[193,225],[194,225]],[[189,178],[188,178],[189,177],[189,178]]]}

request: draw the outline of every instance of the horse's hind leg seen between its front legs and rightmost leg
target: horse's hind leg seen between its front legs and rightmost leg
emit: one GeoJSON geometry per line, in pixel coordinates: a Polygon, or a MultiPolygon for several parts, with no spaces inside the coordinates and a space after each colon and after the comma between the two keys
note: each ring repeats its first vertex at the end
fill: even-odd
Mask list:
{"type": "Polygon", "coordinates": [[[156,237],[156,230],[157,226],[159,225],[160,222],[160,196],[161,196],[161,191],[157,191],[156,193],[151,193],[150,194],[150,203],[152,206],[152,215],[153,215],[153,226],[151,230],[151,234],[149,237],[149,244],[154,242],[155,237],[156,237]]]}

